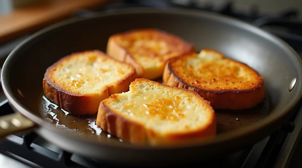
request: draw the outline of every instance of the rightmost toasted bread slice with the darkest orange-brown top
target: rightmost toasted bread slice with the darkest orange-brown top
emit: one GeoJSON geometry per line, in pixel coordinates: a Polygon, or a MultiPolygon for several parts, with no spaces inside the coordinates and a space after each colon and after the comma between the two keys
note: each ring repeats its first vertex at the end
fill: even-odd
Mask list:
{"type": "Polygon", "coordinates": [[[214,50],[201,50],[169,60],[163,81],[169,86],[197,92],[214,109],[251,108],[264,99],[263,77],[214,50]]]}

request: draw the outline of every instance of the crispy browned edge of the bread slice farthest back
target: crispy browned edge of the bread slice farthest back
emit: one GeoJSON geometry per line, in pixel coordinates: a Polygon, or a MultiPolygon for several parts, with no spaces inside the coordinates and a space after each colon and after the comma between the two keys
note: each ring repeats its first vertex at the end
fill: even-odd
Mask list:
{"type": "MultiPolygon", "coordinates": [[[[139,63],[137,63],[134,60],[134,58],[131,56],[131,54],[124,47],[121,47],[120,45],[118,45],[115,42],[114,39],[116,37],[120,36],[120,35],[125,34],[125,33],[129,34],[129,33],[133,33],[133,32],[136,32],[136,31],[142,31],[142,30],[144,30],[144,31],[156,31],[156,32],[159,32],[161,34],[169,35],[169,36],[172,36],[173,38],[178,38],[178,39],[182,40],[185,44],[190,46],[187,51],[184,51],[184,53],[190,53],[190,52],[195,50],[194,44],[188,43],[184,39],[182,39],[182,38],[180,38],[176,35],[173,35],[169,32],[165,32],[163,30],[160,30],[160,29],[132,29],[132,30],[129,30],[129,31],[126,31],[126,32],[121,32],[121,33],[116,33],[114,35],[111,35],[108,39],[106,53],[109,56],[111,56],[111,57],[113,57],[113,58],[115,58],[119,61],[123,61],[125,63],[130,63],[135,68],[135,70],[137,72],[137,75],[140,78],[146,78],[146,79],[159,78],[159,77],[162,76],[162,72],[159,73],[158,75],[154,75],[154,74],[152,75],[152,76],[155,76],[155,77],[151,77],[149,74],[146,74],[143,66],[140,65],[139,63]]],[[[163,66],[161,67],[161,69],[164,69],[164,66],[165,66],[165,62],[163,63],[163,66]]]]}

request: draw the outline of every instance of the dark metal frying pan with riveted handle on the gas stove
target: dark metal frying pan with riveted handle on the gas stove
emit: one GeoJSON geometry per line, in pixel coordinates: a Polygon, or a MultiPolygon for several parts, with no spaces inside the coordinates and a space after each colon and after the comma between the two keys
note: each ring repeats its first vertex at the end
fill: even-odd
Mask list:
{"type": "Polygon", "coordinates": [[[208,160],[252,145],[286,122],[302,96],[301,72],[301,59],[287,43],[218,14],[132,8],[73,18],[31,35],[6,59],[2,87],[16,113],[1,118],[1,134],[33,129],[66,151],[115,163],[208,160]],[[194,43],[197,52],[211,48],[246,63],[264,77],[265,100],[249,110],[217,110],[214,140],[159,148],[123,142],[95,128],[95,115],[73,116],[44,99],[42,79],[48,66],[73,52],[105,51],[110,35],[139,28],[162,29],[194,43]]]}

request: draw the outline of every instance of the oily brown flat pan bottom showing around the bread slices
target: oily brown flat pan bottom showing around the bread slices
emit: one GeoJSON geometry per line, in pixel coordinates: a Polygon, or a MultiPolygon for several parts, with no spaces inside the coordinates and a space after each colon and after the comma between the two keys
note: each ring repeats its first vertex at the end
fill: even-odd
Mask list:
{"type": "MultiPolygon", "coordinates": [[[[162,83],[161,79],[155,81],[162,83]]],[[[50,102],[43,96],[43,93],[41,93],[41,99],[38,105],[40,105],[40,115],[42,118],[48,123],[54,124],[59,129],[87,138],[94,138],[100,142],[131,145],[122,139],[111,136],[96,126],[96,114],[84,116],[72,115],[68,111],[50,102]]],[[[269,98],[266,96],[262,103],[248,110],[216,110],[217,133],[226,133],[255,124],[266,118],[269,113],[269,107],[269,98]]]]}

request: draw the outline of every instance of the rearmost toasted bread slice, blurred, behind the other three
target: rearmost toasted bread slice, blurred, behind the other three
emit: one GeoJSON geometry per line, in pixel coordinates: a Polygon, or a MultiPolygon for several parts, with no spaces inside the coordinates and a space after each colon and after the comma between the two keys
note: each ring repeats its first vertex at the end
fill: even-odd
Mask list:
{"type": "Polygon", "coordinates": [[[181,38],[156,29],[136,29],[112,35],[107,54],[132,64],[138,76],[156,79],[162,76],[168,59],[194,50],[181,38]]]}

